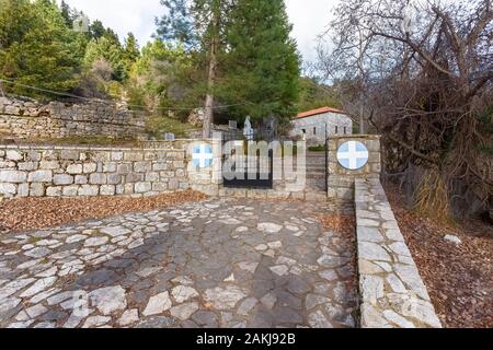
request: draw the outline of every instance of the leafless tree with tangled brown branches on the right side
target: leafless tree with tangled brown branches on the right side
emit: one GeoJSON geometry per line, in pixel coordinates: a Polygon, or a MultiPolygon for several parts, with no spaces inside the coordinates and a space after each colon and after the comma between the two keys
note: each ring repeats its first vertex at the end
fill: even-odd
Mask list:
{"type": "Polygon", "coordinates": [[[356,82],[348,101],[363,101],[382,133],[387,171],[406,175],[424,210],[484,206],[493,194],[491,0],[343,0],[335,11],[320,69],[356,82]]]}

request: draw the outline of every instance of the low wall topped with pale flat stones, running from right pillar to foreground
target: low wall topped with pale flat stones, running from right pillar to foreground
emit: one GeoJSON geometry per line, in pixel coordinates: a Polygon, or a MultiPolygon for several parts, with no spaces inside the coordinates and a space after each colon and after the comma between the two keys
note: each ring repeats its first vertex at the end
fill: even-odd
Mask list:
{"type": "Polygon", "coordinates": [[[440,328],[379,179],[355,187],[362,327],[440,328]]]}

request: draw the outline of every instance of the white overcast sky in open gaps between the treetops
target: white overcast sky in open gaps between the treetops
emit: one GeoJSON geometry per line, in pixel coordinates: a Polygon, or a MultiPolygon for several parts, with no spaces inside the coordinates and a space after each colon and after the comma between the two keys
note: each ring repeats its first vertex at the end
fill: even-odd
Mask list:
{"type": "MultiPolygon", "coordinates": [[[[266,0],[268,1],[268,0],[266,0]]],[[[331,9],[339,0],[286,0],[293,36],[305,60],[312,60],[314,39],[331,20],[331,9]]],[[[61,2],[59,0],[59,2],[61,2]]],[[[144,45],[156,31],[154,18],[163,13],[159,0],[66,0],[91,20],[101,20],[122,37],[133,32],[144,45]]]]}

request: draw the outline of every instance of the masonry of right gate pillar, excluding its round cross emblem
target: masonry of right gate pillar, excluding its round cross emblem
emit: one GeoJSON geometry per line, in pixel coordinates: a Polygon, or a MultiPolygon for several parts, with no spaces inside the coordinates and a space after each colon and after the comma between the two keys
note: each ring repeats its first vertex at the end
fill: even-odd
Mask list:
{"type": "Polygon", "coordinates": [[[331,137],[328,140],[328,197],[353,200],[356,179],[379,178],[381,173],[380,136],[359,135],[331,137]],[[337,151],[348,141],[359,141],[368,149],[368,163],[357,171],[344,168],[337,161],[337,151]]]}

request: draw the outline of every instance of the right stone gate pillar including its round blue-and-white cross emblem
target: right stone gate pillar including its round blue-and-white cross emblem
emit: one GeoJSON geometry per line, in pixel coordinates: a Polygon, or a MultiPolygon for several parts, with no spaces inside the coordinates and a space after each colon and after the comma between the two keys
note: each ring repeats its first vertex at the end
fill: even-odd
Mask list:
{"type": "Polygon", "coordinates": [[[380,178],[380,136],[331,137],[328,140],[328,197],[354,199],[356,178],[380,178]]]}

